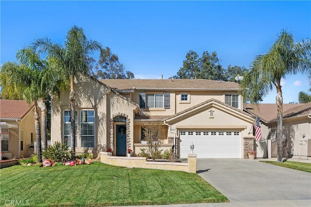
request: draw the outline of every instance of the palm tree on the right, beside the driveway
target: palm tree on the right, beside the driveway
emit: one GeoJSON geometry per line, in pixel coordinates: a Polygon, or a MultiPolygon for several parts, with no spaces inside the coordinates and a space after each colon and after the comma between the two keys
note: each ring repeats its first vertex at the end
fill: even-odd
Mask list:
{"type": "Polygon", "coordinates": [[[308,50],[310,50],[310,43],[306,44],[305,42],[304,45],[295,43],[294,36],[282,30],[269,52],[256,56],[251,70],[245,73],[241,81],[240,91],[244,99],[248,99],[252,103],[258,103],[274,87],[276,88],[277,162],[282,162],[284,140],[281,78],[285,78],[286,74],[310,71],[311,63],[308,50]],[[249,91],[248,88],[252,90],[249,91]]]}

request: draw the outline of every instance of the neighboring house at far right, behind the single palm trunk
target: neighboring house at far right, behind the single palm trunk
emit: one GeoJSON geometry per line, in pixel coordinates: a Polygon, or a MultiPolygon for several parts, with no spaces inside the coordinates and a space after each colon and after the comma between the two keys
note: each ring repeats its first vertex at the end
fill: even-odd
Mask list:
{"type": "MultiPolygon", "coordinates": [[[[256,141],[257,157],[277,156],[276,104],[244,104],[244,110],[260,118],[260,142],[256,141]]],[[[310,159],[311,157],[311,102],[283,104],[283,157],[310,159]]]]}

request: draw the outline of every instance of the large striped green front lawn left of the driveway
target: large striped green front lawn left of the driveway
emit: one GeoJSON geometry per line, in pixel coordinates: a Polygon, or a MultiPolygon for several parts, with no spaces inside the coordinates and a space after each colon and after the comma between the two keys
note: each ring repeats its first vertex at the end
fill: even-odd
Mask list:
{"type": "Polygon", "coordinates": [[[196,173],[91,165],[0,170],[0,206],[126,206],[229,202],[196,173]]]}

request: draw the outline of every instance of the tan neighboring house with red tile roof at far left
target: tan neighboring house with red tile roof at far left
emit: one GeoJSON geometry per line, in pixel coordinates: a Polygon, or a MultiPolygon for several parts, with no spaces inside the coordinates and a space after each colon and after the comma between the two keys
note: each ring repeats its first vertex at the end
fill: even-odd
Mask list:
{"type": "MultiPolygon", "coordinates": [[[[0,100],[1,157],[30,157],[34,153],[33,106],[26,101],[0,100]]],[[[2,159],[1,158],[1,159],[2,159]]]]}

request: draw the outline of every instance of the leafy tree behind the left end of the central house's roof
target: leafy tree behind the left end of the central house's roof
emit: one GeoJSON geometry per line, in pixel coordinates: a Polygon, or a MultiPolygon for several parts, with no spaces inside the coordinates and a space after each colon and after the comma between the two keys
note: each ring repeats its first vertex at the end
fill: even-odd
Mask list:
{"type": "Polygon", "coordinates": [[[119,62],[119,57],[111,52],[111,49],[106,47],[103,49],[98,64],[101,69],[93,72],[93,76],[101,79],[134,79],[134,74],[130,71],[125,71],[123,64],[119,62]]]}

